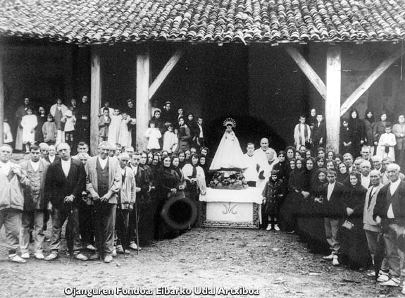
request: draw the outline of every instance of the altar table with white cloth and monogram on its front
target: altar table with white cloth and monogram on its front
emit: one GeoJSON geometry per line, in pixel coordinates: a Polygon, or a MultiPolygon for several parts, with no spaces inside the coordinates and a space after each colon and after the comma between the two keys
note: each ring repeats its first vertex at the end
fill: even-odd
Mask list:
{"type": "Polygon", "coordinates": [[[261,222],[261,188],[218,190],[200,194],[201,225],[204,227],[258,229],[261,222]]]}

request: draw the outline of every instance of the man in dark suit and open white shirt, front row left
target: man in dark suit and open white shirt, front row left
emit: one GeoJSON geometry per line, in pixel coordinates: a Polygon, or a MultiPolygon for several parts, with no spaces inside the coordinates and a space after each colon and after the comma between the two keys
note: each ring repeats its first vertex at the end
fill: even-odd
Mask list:
{"type": "Polygon", "coordinates": [[[66,240],[70,254],[75,259],[87,261],[87,256],[80,253],[79,239],[79,203],[85,190],[85,167],[80,161],[70,158],[70,147],[66,143],[58,144],[61,159],[48,168],[44,193],[49,197],[48,209],[52,216],[51,254],[46,261],[58,258],[61,244],[61,230],[66,219],[66,240]]]}

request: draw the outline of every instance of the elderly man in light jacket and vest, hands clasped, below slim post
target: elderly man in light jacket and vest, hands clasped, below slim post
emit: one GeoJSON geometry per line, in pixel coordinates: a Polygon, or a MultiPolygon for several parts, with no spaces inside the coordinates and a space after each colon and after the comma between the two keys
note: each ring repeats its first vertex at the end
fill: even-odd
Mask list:
{"type": "Polygon", "coordinates": [[[94,201],[94,219],[96,229],[96,247],[98,253],[90,257],[99,259],[101,254],[104,263],[113,260],[114,226],[118,192],[121,188],[120,165],[116,159],[108,156],[110,144],[104,141],[99,144],[99,155],[91,157],[86,163],[86,189],[94,201]]]}

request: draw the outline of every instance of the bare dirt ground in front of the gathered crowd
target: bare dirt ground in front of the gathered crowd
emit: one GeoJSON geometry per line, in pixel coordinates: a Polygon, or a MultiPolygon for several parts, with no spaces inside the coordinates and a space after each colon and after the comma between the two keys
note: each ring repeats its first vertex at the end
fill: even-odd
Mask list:
{"type": "MultiPolygon", "coordinates": [[[[46,243],[46,252],[48,247],[46,243]]],[[[139,255],[118,255],[109,264],[70,261],[66,251],[56,261],[32,257],[15,264],[7,261],[1,229],[0,252],[0,297],[8,298],[74,297],[69,292],[74,287],[113,289],[114,294],[93,297],[156,297],[165,289],[183,291],[166,297],[203,296],[194,287],[214,287],[216,294],[208,297],[401,297],[399,288],[376,286],[364,272],[334,267],[322,255],[309,252],[297,235],[285,232],[197,228],[154,242],[139,255]],[[118,294],[117,287],[150,290],[151,295],[118,294]],[[239,292],[223,294],[231,289],[239,292]],[[243,295],[243,290],[252,295],[243,295]]]]}

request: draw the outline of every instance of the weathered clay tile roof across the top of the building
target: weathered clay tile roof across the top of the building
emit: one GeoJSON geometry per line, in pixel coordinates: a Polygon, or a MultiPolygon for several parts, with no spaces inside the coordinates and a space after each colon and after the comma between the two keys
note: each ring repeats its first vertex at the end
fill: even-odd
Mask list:
{"type": "Polygon", "coordinates": [[[0,0],[0,36],[72,44],[405,39],[405,0],[0,0]]]}

